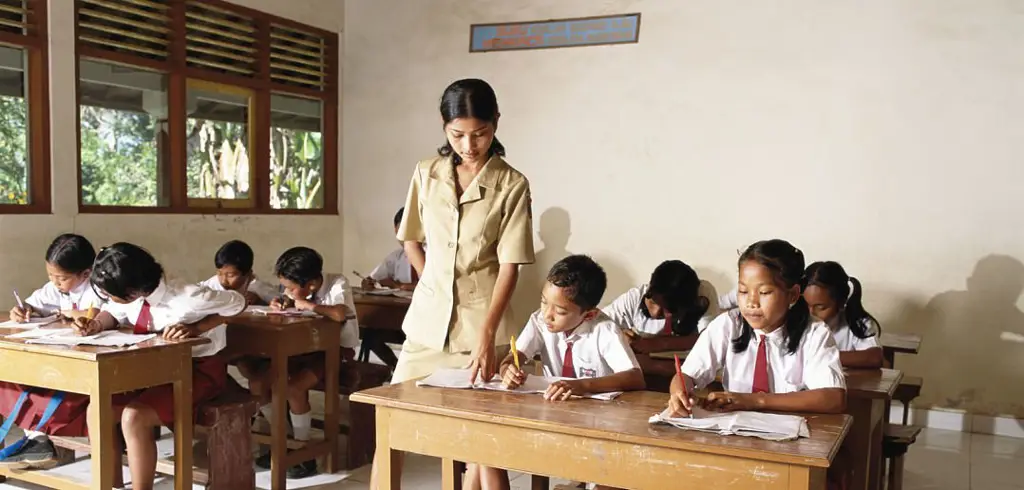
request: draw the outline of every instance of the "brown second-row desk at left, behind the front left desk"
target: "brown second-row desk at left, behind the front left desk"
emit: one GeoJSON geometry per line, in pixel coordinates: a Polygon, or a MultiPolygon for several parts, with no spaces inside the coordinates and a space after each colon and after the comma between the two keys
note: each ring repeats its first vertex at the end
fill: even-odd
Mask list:
{"type": "Polygon", "coordinates": [[[326,455],[327,472],[340,466],[338,451],[338,371],[341,366],[341,323],[326,318],[294,318],[243,314],[229,318],[225,355],[270,358],[270,392],[273,420],[270,420],[270,482],[274,490],[285,490],[285,471],[301,461],[326,455]],[[288,452],[288,358],[324,352],[324,440],[310,442],[288,452]]]}

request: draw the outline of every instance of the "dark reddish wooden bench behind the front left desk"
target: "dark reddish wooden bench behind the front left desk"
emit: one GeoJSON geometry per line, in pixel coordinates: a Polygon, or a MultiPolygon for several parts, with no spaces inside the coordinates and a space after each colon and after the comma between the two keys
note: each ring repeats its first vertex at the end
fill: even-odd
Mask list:
{"type": "MultiPolygon", "coordinates": [[[[255,488],[250,427],[259,406],[255,397],[228,377],[220,396],[198,407],[196,427],[197,432],[207,435],[207,467],[194,471],[196,483],[205,484],[210,490],[255,488]]],[[[51,437],[50,440],[63,449],[58,449],[61,462],[73,460],[74,451],[89,452],[86,438],[51,437]]],[[[157,473],[174,475],[174,461],[158,459],[157,473]]]]}

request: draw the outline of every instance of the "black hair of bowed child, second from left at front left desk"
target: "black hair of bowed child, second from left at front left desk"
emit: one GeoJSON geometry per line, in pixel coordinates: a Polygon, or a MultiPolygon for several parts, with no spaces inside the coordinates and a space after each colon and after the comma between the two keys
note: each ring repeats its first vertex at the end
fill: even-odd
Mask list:
{"type": "Polygon", "coordinates": [[[129,300],[148,296],[164,277],[164,268],[145,249],[118,242],[99,250],[89,276],[94,287],[108,295],[129,300]]]}

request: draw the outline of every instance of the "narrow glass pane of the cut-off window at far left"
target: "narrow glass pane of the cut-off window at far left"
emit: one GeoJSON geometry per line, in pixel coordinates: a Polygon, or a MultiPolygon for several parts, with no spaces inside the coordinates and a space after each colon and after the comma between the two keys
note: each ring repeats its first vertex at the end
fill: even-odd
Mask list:
{"type": "Polygon", "coordinates": [[[26,53],[0,46],[0,204],[29,204],[26,53]]]}

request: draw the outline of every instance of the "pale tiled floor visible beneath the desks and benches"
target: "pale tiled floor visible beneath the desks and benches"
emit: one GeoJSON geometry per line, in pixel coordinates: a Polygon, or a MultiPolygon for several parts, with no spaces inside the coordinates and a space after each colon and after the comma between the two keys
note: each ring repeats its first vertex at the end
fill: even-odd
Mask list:
{"type": "MultiPolygon", "coordinates": [[[[310,486],[311,481],[294,481],[289,482],[289,488],[361,490],[370,487],[369,466],[330,477],[335,483],[310,486]]],[[[513,490],[529,488],[528,476],[514,474],[512,477],[513,490]]],[[[407,459],[402,477],[404,489],[437,489],[440,479],[437,459],[417,455],[407,459]]],[[[925,430],[907,455],[903,485],[906,490],[1024,490],[1024,439],[925,430]]],[[[0,489],[36,488],[40,487],[0,484],[0,489]]],[[[170,482],[163,482],[158,488],[164,490],[172,486],[170,482]]]]}

